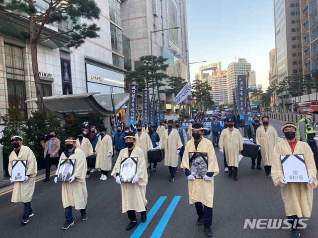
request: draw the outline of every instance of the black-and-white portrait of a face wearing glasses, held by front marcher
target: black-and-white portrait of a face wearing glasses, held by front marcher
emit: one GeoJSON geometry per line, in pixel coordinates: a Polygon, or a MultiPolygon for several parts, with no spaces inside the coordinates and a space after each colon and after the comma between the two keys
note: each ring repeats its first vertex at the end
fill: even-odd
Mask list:
{"type": "Polygon", "coordinates": [[[202,179],[208,172],[208,153],[190,152],[190,172],[196,179],[202,179]]]}

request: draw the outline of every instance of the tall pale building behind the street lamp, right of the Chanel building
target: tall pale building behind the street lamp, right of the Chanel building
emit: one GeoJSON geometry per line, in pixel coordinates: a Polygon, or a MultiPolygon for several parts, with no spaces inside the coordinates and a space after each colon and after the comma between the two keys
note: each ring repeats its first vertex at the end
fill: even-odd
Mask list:
{"type": "MultiPolygon", "coordinates": [[[[140,57],[151,55],[152,48],[153,56],[168,59],[166,74],[189,77],[185,0],[122,0],[121,24],[123,34],[130,38],[133,68],[142,63],[140,57]]],[[[160,93],[160,99],[166,101],[166,108],[173,107],[172,97],[160,93]]]]}

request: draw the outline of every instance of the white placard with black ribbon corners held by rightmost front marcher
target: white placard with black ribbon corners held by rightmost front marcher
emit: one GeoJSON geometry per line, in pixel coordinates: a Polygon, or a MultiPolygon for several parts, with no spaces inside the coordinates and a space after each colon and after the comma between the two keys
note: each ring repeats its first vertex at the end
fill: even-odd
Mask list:
{"type": "Polygon", "coordinates": [[[286,182],[308,182],[304,155],[280,156],[286,182]]]}

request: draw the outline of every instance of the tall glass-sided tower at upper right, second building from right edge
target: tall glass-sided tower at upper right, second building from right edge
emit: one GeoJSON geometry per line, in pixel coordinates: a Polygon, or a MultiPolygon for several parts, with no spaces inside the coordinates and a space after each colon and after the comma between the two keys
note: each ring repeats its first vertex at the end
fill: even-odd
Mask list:
{"type": "MultiPolygon", "coordinates": [[[[303,73],[301,18],[298,0],[274,0],[275,48],[277,58],[277,83],[284,77],[303,73]]],[[[288,110],[292,102],[287,101],[287,91],[280,96],[278,107],[288,110]]]]}

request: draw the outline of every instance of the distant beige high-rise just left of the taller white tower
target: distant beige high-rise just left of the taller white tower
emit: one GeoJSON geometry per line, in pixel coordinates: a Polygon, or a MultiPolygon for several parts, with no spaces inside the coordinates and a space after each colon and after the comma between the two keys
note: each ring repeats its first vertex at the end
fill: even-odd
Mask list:
{"type": "Polygon", "coordinates": [[[209,84],[212,88],[213,101],[216,106],[228,102],[228,80],[227,70],[217,72],[208,77],[209,84]]]}

